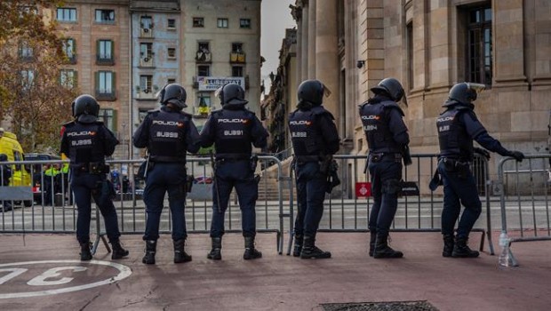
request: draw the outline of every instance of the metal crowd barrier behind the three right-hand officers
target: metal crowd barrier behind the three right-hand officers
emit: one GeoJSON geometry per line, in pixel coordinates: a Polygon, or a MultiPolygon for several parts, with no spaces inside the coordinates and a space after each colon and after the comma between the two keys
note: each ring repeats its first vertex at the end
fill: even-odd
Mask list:
{"type": "MultiPolygon", "coordinates": [[[[403,167],[403,180],[412,181],[419,187],[417,195],[403,195],[398,199],[398,210],[391,227],[391,232],[440,232],[440,217],[443,208],[443,187],[435,192],[430,191],[428,183],[437,166],[436,154],[411,155],[413,163],[403,167]]],[[[371,212],[371,196],[359,198],[355,195],[356,182],[369,182],[369,171],[365,169],[366,156],[336,155],[339,163],[340,185],[333,188],[331,195],[326,194],[320,232],[369,232],[368,223],[371,212]]],[[[488,191],[489,172],[485,158],[476,156],[472,167],[475,179],[480,181],[479,195],[485,195],[485,224],[483,215],[475,224],[474,232],[480,232],[480,251],[483,251],[484,238],[488,239],[491,255],[494,254],[491,235],[491,200],[488,191]],[[484,226],[485,225],[485,226],[484,226]]],[[[290,206],[290,237],[287,255],[291,254],[293,235],[293,207],[290,206]]]]}

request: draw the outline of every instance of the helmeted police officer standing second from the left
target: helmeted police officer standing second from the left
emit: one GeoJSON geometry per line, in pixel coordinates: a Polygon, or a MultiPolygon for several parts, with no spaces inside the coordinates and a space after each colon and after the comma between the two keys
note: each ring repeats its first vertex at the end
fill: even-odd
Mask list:
{"type": "Polygon", "coordinates": [[[148,148],[148,171],[143,201],[148,220],[143,240],[146,242],[144,264],[155,264],[159,222],[164,194],[168,192],[172,216],[174,263],[191,261],[184,250],[188,233],[184,212],[187,192],[187,152],[196,153],[199,133],[191,115],[182,111],[186,105],[186,90],[179,84],[168,84],[159,93],[162,107],[148,111],[132,137],[136,148],[148,148]]]}

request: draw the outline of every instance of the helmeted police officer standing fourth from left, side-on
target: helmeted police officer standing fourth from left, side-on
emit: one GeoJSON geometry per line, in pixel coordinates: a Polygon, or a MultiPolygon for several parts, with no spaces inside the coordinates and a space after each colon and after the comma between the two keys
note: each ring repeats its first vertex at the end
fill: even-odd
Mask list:
{"type": "Polygon", "coordinates": [[[328,171],[322,171],[321,164],[327,156],[339,151],[334,117],[322,106],[323,96],[328,94],[320,81],[303,81],[299,85],[297,109],[289,116],[298,204],[293,256],[301,259],[331,258],[331,252],[315,246],[327,190],[328,171]]]}

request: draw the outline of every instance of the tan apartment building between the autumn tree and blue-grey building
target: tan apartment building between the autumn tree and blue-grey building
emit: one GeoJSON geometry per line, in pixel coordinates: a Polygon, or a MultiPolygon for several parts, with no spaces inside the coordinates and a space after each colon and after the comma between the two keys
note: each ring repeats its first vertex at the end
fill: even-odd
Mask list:
{"type": "Polygon", "coordinates": [[[128,1],[67,1],[51,13],[69,64],[61,68],[65,83],[100,102],[100,119],[116,133],[121,145],[115,157],[129,156],[130,140],[130,15],[128,1]]]}

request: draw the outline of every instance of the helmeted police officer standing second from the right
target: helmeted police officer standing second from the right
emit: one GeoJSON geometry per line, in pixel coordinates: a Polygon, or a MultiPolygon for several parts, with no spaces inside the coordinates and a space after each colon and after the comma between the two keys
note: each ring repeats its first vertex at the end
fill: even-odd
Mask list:
{"type": "Polygon", "coordinates": [[[373,258],[402,258],[402,251],[388,246],[388,231],[398,206],[403,152],[410,135],[397,102],[404,99],[402,84],[386,78],[371,88],[375,96],[360,105],[363,132],[369,145],[368,169],[373,206],[369,220],[370,250],[373,258]]]}

